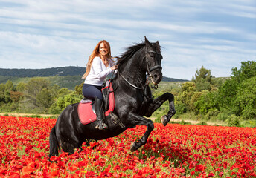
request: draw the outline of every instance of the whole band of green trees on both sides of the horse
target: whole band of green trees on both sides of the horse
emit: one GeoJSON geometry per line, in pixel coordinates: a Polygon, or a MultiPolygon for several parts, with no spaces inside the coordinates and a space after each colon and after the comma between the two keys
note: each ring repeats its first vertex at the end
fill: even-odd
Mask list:
{"type": "MultiPolygon", "coordinates": [[[[191,113],[196,119],[216,119],[228,125],[240,126],[242,121],[256,126],[256,62],[241,62],[241,67],[231,69],[232,74],[225,82],[211,75],[211,70],[201,67],[190,82],[184,82],[175,92],[176,118],[191,113]]],[[[0,111],[16,113],[60,114],[68,105],[80,102],[83,83],[74,90],[50,85],[48,79],[31,78],[28,82],[13,85],[8,81],[0,84],[0,111]]],[[[153,96],[163,92],[153,90],[153,96]]],[[[167,113],[168,103],[154,113],[160,117],[167,113]]]]}

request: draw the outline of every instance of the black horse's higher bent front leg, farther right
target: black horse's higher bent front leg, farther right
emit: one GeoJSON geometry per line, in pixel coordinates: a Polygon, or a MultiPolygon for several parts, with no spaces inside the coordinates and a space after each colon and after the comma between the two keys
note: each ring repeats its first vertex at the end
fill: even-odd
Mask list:
{"type": "Polygon", "coordinates": [[[165,126],[170,121],[170,118],[176,113],[174,108],[174,96],[171,93],[164,93],[158,98],[154,99],[147,109],[145,116],[151,116],[165,101],[169,101],[169,111],[167,115],[161,116],[161,123],[165,126]]]}

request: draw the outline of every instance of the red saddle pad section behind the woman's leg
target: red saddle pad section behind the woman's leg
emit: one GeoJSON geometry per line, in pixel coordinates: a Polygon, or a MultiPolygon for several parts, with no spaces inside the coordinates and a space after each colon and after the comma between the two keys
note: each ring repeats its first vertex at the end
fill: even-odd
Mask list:
{"type": "Polygon", "coordinates": [[[77,111],[80,122],[83,125],[95,122],[95,120],[97,119],[96,114],[92,110],[92,102],[79,103],[77,111]]]}

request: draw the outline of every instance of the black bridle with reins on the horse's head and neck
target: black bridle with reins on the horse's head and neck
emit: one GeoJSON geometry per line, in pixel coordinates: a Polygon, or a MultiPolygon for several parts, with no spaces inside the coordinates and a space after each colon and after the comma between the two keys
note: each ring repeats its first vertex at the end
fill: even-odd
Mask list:
{"type": "Polygon", "coordinates": [[[155,89],[158,88],[158,85],[157,85],[155,82],[153,82],[153,76],[151,75],[151,72],[152,72],[153,70],[158,69],[158,68],[162,69],[162,67],[161,67],[161,65],[155,65],[155,66],[153,66],[153,67],[149,67],[149,62],[148,62],[148,58],[147,58],[147,54],[149,54],[149,53],[156,53],[157,55],[161,55],[161,53],[157,53],[157,52],[154,51],[154,50],[147,50],[147,47],[146,47],[146,52],[145,52],[146,56],[145,56],[145,59],[146,59],[146,64],[147,64],[147,80],[146,80],[146,83],[145,83],[144,86],[142,86],[142,87],[137,87],[137,86],[133,85],[133,84],[130,83],[127,79],[125,79],[125,77],[118,71],[119,75],[124,79],[125,82],[127,82],[129,85],[131,85],[132,88],[136,88],[136,89],[142,90],[142,89],[145,88],[145,86],[149,85],[150,82],[152,82],[152,83],[154,84],[153,88],[155,88],[155,89]]]}

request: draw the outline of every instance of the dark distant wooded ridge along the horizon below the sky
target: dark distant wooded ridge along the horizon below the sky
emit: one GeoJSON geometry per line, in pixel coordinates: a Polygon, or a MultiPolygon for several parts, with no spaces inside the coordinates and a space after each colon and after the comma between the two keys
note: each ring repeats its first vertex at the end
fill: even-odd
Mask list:
{"type": "MultiPolygon", "coordinates": [[[[0,68],[0,76],[8,77],[47,77],[47,76],[83,76],[85,73],[86,67],[53,67],[45,69],[4,69],[0,68]]],[[[5,77],[4,77],[5,78],[5,77]]],[[[185,82],[188,80],[184,79],[173,79],[164,76],[164,82],[185,82]]],[[[1,82],[4,82],[3,80],[1,82]]]]}

